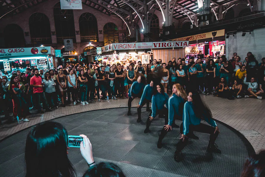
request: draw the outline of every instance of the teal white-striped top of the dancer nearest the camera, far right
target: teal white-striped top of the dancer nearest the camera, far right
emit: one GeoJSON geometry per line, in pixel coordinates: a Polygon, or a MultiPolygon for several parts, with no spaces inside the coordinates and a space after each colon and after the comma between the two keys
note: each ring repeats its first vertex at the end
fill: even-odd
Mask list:
{"type": "MultiPolygon", "coordinates": [[[[213,127],[216,127],[216,122],[211,117],[203,116],[203,119],[213,127]]],[[[187,135],[189,133],[190,125],[198,125],[201,123],[201,119],[196,117],[193,111],[193,103],[191,101],[187,101],[184,104],[183,109],[183,134],[187,135]]]]}

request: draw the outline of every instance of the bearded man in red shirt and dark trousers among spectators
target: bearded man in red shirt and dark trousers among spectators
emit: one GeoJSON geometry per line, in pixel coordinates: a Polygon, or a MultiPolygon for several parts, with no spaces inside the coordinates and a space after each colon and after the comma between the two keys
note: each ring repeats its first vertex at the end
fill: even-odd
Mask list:
{"type": "Polygon", "coordinates": [[[46,108],[48,112],[52,111],[48,107],[47,99],[43,92],[42,78],[39,76],[39,70],[34,69],[34,76],[30,78],[30,85],[33,87],[33,95],[35,98],[35,108],[39,110],[39,113],[44,113],[42,107],[40,106],[40,101],[42,101],[42,106],[46,108]]]}

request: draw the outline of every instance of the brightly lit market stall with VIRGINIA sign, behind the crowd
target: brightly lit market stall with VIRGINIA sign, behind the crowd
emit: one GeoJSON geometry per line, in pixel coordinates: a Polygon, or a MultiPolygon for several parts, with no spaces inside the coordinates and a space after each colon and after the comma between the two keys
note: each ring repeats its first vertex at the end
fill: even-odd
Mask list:
{"type": "Polygon", "coordinates": [[[95,55],[93,58],[98,61],[106,61],[107,64],[137,63],[141,61],[143,64],[148,64],[153,59],[162,59],[163,62],[168,62],[173,57],[184,55],[184,48],[188,46],[188,41],[174,42],[133,42],[133,43],[112,43],[110,44],[111,53],[104,50],[103,53],[95,55],[96,50],[91,51],[95,55]],[[169,56],[170,55],[170,56],[169,56]]]}

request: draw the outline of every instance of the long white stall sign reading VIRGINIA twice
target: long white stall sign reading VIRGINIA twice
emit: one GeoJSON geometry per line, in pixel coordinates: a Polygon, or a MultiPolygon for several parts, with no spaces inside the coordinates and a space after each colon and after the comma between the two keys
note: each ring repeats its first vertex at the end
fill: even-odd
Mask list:
{"type": "Polygon", "coordinates": [[[188,47],[189,41],[113,43],[113,50],[188,47]]]}

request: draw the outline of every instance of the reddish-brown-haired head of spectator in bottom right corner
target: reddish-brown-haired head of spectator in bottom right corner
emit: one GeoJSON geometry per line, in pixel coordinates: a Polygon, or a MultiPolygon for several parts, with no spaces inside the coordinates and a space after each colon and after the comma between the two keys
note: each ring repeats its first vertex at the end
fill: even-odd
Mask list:
{"type": "Polygon", "coordinates": [[[259,154],[247,158],[241,177],[262,177],[265,176],[265,150],[259,154]]]}

